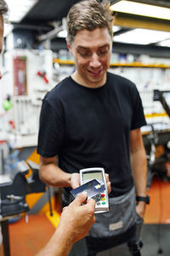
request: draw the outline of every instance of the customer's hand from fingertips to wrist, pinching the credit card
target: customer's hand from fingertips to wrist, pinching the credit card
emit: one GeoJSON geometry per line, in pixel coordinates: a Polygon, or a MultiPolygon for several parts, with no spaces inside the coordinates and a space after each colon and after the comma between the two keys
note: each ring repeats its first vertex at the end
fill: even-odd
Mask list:
{"type": "Polygon", "coordinates": [[[65,207],[61,214],[59,229],[65,230],[73,243],[87,236],[95,222],[95,201],[89,199],[87,204],[82,206],[87,196],[86,192],[77,195],[77,198],[71,202],[69,207],[65,207]]]}

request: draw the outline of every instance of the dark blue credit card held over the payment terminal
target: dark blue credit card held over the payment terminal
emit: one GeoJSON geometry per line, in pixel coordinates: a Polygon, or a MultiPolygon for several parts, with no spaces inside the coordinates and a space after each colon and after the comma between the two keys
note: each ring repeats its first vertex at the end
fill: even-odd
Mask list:
{"type": "Polygon", "coordinates": [[[105,185],[100,184],[96,179],[89,181],[88,183],[82,184],[82,186],[78,187],[77,189],[71,190],[71,195],[77,197],[78,194],[86,191],[88,193],[88,199],[98,195],[102,191],[105,190],[105,185]]]}

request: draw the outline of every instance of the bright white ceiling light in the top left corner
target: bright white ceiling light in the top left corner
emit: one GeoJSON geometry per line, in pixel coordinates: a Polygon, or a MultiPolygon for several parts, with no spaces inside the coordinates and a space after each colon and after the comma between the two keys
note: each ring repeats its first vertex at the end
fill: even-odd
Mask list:
{"type": "Polygon", "coordinates": [[[38,0],[6,0],[8,4],[8,20],[20,22],[38,0]]]}

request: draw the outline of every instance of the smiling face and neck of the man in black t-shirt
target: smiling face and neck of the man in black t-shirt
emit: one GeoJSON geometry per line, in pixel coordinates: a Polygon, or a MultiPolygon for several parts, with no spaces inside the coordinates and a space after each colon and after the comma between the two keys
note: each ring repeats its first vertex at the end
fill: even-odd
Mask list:
{"type": "Polygon", "coordinates": [[[111,35],[107,28],[77,32],[74,41],[71,45],[68,44],[77,67],[73,78],[79,84],[92,88],[105,84],[106,71],[110,66],[111,46],[111,35]]]}

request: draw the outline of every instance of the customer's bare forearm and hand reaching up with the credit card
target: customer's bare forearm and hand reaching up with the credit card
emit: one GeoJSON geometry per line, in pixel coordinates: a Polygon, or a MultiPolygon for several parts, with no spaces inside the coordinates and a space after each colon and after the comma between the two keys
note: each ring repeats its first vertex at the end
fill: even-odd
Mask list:
{"type": "Polygon", "coordinates": [[[59,226],[55,230],[54,235],[50,238],[47,245],[37,253],[37,256],[69,255],[73,244],[88,235],[88,231],[95,222],[95,201],[89,199],[82,206],[87,196],[86,192],[77,195],[77,198],[68,207],[64,208],[61,213],[59,226]]]}

